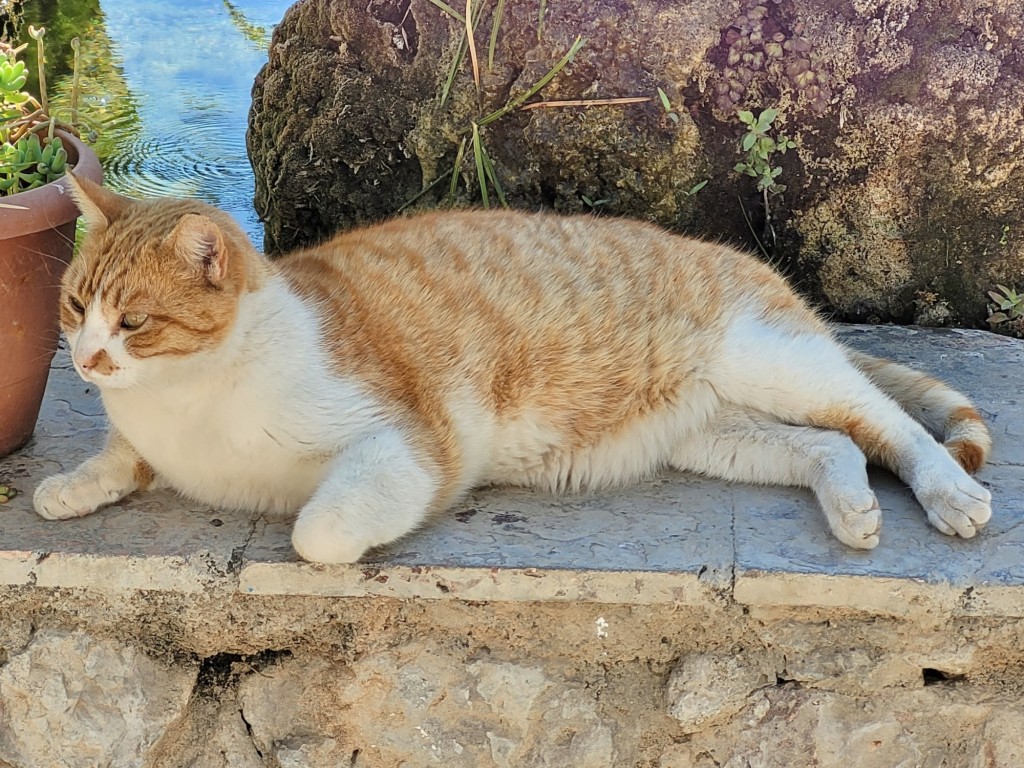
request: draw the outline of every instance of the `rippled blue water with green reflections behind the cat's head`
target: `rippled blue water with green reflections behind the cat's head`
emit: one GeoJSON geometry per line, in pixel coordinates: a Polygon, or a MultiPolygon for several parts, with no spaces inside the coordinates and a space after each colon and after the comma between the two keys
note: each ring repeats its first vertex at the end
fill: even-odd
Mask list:
{"type": "Polygon", "coordinates": [[[47,28],[49,90],[61,104],[71,90],[68,41],[80,36],[83,112],[111,188],[200,198],[232,214],[259,245],[246,124],[253,78],[289,5],[27,0],[22,39],[29,24],[47,28]]]}

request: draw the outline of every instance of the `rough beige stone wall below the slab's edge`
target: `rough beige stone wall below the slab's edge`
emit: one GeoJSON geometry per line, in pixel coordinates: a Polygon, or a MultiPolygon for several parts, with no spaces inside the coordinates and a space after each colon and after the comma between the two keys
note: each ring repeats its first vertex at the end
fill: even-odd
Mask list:
{"type": "Polygon", "coordinates": [[[4,596],[0,765],[1016,768],[1024,624],[931,609],[4,596]],[[144,617],[144,621],[140,621],[144,617]]]}

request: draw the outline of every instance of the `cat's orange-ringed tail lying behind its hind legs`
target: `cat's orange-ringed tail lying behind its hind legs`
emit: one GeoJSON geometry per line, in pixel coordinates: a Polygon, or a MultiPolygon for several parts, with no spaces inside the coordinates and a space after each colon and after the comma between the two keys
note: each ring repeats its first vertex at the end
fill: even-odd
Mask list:
{"type": "Polygon", "coordinates": [[[992,450],[985,420],[955,389],[898,362],[846,349],[847,358],[912,418],[942,436],[943,444],[968,472],[977,471],[992,450]]]}

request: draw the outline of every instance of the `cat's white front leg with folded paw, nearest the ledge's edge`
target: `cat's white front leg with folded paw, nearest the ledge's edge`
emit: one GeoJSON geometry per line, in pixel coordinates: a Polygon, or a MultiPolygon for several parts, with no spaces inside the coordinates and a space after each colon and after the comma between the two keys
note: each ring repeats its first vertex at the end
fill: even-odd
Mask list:
{"type": "Polygon", "coordinates": [[[423,522],[438,472],[399,430],[385,428],[345,447],[299,511],[292,545],[304,560],[350,563],[423,522]]]}

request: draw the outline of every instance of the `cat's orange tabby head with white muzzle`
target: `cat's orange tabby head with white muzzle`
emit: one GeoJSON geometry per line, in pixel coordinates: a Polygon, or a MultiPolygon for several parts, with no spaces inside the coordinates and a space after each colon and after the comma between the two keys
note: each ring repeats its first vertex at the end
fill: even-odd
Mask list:
{"type": "Polygon", "coordinates": [[[136,201],[69,180],[86,236],[61,283],[60,325],[79,375],[145,385],[218,349],[261,273],[233,220],[199,201],[136,201]]]}

